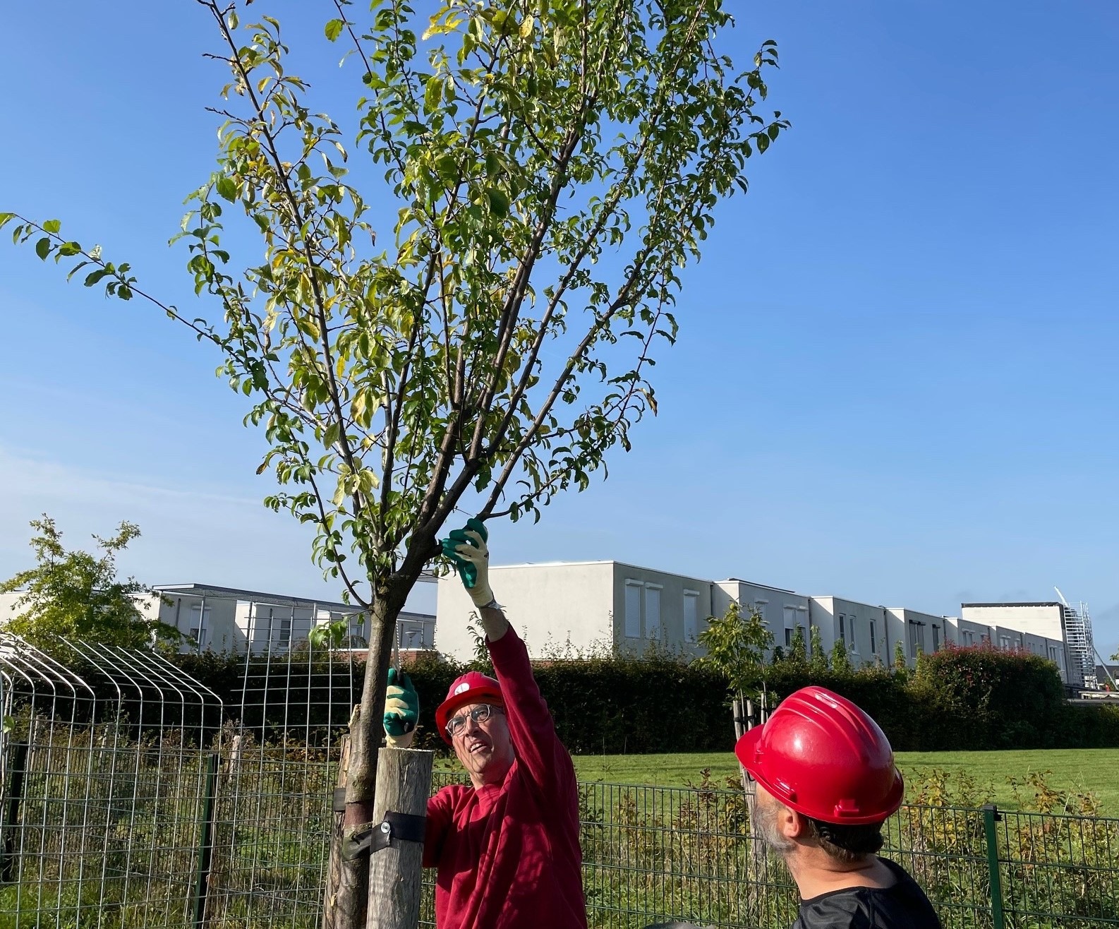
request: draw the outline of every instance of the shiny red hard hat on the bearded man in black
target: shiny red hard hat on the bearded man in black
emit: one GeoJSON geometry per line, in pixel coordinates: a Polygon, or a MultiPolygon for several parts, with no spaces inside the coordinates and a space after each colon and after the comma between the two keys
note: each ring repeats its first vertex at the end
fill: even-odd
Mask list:
{"type": "Polygon", "coordinates": [[[825,823],[881,823],[905,792],[878,724],[824,687],[790,694],[734,753],[778,800],[825,823]]]}

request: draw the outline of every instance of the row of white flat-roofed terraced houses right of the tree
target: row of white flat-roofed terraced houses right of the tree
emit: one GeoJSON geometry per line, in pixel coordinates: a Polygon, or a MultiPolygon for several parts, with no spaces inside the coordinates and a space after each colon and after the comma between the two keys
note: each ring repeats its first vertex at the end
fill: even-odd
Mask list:
{"type": "MultiPolygon", "coordinates": [[[[490,581],[534,658],[640,655],[650,647],[698,657],[703,648],[697,639],[707,618],[722,616],[734,600],[761,613],[774,646],[791,645],[797,627],[803,630],[807,645],[809,630],[817,628],[824,649],[830,654],[836,641],[845,642],[855,666],[891,664],[897,642],[912,667],[919,653],[938,651],[947,642],[986,641],[1049,658],[1070,686],[1094,686],[1094,675],[1084,675],[1072,660],[1068,622],[1034,622],[1027,611],[1003,609],[1031,604],[968,603],[959,617],[935,616],[841,597],[814,597],[737,578],[709,581],[618,561],[493,565],[490,581]]],[[[458,579],[441,578],[435,612],[440,651],[459,659],[474,654],[473,613],[473,603],[458,579]]]]}

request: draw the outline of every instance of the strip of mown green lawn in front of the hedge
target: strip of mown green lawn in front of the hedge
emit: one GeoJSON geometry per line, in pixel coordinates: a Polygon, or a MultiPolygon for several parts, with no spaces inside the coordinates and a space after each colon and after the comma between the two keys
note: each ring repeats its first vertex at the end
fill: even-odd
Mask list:
{"type": "MultiPolygon", "coordinates": [[[[995,803],[1014,809],[1014,791],[1007,778],[1024,779],[1031,771],[1052,771],[1046,780],[1059,790],[1091,790],[1103,804],[1103,811],[1119,816],[1119,749],[1053,749],[1035,751],[900,752],[897,764],[910,785],[922,770],[942,768],[967,770],[981,788],[990,787],[995,803]]],[[[615,783],[683,786],[699,780],[699,771],[709,768],[718,779],[737,777],[739,768],[731,752],[700,754],[608,754],[579,756],[575,769],[580,780],[615,783]]]]}

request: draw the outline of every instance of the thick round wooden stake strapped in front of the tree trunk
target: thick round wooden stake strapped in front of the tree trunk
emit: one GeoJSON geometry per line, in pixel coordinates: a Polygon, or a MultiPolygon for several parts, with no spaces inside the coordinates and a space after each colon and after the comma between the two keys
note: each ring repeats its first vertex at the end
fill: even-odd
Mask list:
{"type": "MultiPolygon", "coordinates": [[[[374,822],[386,813],[425,816],[434,753],[382,749],[377,763],[374,822]]],[[[366,929],[415,929],[420,923],[423,845],[393,839],[369,861],[369,917],[366,929]]]]}

